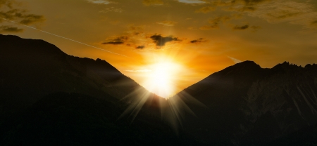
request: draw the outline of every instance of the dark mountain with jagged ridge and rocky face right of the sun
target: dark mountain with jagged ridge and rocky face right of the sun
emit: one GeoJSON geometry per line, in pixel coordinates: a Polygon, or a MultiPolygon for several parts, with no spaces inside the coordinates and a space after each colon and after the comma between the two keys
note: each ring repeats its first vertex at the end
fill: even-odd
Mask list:
{"type": "Polygon", "coordinates": [[[245,61],[211,74],[173,98],[186,102],[197,115],[183,126],[206,144],[280,145],[291,140],[307,145],[317,141],[316,131],[307,130],[317,126],[316,95],[315,64],[283,62],[263,69],[245,61]],[[192,98],[207,108],[193,104],[192,98]],[[301,137],[306,139],[294,133],[305,133],[301,137]]]}

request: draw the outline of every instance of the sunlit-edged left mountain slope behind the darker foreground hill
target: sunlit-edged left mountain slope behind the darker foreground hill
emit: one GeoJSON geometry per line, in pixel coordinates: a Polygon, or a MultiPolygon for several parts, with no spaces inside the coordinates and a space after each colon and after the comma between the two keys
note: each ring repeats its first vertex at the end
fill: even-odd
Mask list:
{"type": "Polygon", "coordinates": [[[0,107],[24,108],[59,91],[98,98],[110,95],[114,98],[104,100],[113,102],[126,95],[154,96],[104,60],[77,58],[45,41],[18,36],[0,34],[0,45],[0,107]],[[133,92],[136,89],[139,92],[133,92]]]}

